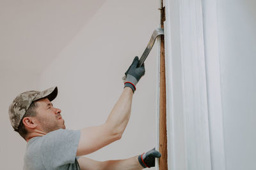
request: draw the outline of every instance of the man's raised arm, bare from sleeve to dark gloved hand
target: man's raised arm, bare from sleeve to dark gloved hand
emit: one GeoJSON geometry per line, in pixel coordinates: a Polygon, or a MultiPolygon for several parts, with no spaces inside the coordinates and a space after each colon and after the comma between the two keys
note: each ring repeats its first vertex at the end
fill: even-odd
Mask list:
{"type": "Polygon", "coordinates": [[[135,85],[145,73],[144,65],[137,67],[138,62],[138,57],[135,57],[125,73],[127,74],[127,81],[124,90],[106,122],[100,126],[87,127],[81,130],[77,156],[95,152],[122,137],[131,115],[132,96],[136,90],[135,85]]]}

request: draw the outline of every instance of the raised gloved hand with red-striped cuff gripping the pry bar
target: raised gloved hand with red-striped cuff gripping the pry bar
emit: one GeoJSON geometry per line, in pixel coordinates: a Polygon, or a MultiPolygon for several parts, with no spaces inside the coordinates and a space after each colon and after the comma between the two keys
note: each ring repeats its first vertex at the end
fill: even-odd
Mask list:
{"type": "Polygon", "coordinates": [[[145,74],[144,63],[141,67],[138,67],[139,57],[136,56],[131,64],[131,66],[125,72],[126,80],[124,82],[124,87],[131,87],[132,91],[136,90],[136,84],[140,78],[145,74]]]}

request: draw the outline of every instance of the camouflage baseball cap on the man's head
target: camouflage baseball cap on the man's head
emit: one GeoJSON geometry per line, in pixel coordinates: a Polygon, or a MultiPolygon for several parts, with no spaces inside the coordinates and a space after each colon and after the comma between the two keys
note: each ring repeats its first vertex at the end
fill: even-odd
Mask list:
{"type": "Polygon", "coordinates": [[[24,117],[26,111],[28,110],[30,104],[33,101],[42,99],[47,97],[49,101],[55,99],[58,94],[57,87],[51,87],[50,89],[44,90],[42,92],[38,92],[35,90],[31,90],[28,92],[24,92],[19,94],[12,102],[9,107],[9,117],[12,124],[13,129],[17,130],[20,124],[20,121],[24,117]]]}

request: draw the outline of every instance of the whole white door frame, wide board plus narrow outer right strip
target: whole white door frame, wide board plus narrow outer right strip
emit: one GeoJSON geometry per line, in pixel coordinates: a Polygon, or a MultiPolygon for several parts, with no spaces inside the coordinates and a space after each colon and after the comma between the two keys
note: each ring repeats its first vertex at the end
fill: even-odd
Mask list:
{"type": "Polygon", "coordinates": [[[168,169],[224,170],[216,1],[164,6],[168,169]]]}

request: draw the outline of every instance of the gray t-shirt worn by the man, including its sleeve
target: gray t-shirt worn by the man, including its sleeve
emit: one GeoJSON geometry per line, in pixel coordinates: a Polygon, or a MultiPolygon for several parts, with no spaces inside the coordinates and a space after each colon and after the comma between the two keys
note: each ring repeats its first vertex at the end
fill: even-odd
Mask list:
{"type": "Polygon", "coordinates": [[[76,151],[81,132],[58,129],[29,140],[24,170],[80,170],[76,151]]]}

